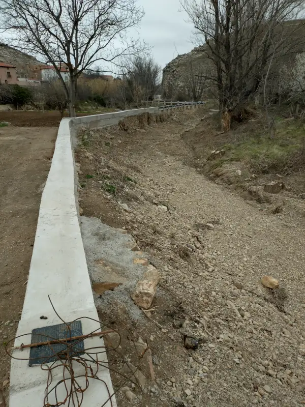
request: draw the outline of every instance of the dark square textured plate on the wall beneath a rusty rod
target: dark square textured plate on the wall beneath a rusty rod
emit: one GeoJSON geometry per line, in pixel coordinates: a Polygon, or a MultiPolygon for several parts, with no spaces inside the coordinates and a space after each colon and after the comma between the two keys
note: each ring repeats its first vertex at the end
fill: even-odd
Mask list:
{"type": "MultiPolygon", "coordinates": [[[[71,323],[68,324],[70,325],[71,334],[66,324],[51,325],[49,327],[33,329],[31,343],[39,343],[52,340],[50,339],[50,337],[54,339],[64,339],[83,334],[81,321],[74,321],[72,324],[71,323]]],[[[69,343],[70,344],[76,343],[76,345],[73,346],[73,350],[75,351],[74,355],[76,354],[82,355],[84,353],[83,340],[80,341],[79,339],[76,339],[70,341],[69,343]]],[[[28,362],[28,365],[34,366],[40,365],[41,363],[54,362],[55,360],[58,359],[54,355],[58,354],[58,352],[60,351],[64,351],[66,348],[67,345],[64,343],[54,343],[50,345],[31,347],[31,350],[29,352],[30,360],[28,362]]]]}

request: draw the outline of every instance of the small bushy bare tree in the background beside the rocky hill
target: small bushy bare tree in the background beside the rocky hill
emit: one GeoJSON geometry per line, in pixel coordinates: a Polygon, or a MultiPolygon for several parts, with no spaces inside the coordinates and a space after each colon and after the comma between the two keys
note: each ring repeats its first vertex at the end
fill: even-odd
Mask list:
{"type": "Polygon", "coordinates": [[[123,80],[130,98],[137,105],[153,100],[161,81],[161,66],[154,61],[153,57],[146,54],[125,59],[123,65],[123,80]]]}

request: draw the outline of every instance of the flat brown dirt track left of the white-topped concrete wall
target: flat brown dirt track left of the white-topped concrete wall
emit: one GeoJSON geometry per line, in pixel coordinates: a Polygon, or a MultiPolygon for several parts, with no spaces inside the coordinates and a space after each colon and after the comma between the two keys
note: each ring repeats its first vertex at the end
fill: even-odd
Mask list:
{"type": "Polygon", "coordinates": [[[0,128],[0,385],[8,384],[5,344],[23,306],[43,186],[56,128],[0,128]]]}

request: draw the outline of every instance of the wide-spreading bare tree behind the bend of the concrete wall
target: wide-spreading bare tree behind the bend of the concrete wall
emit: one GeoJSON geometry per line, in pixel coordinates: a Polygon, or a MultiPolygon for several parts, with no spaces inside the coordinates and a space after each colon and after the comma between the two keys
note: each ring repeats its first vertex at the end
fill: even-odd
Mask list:
{"type": "Polygon", "coordinates": [[[127,38],[142,16],[136,0],[0,0],[2,27],[12,34],[10,44],[52,64],[72,117],[77,79],[84,70],[143,49],[139,40],[127,38]],[[60,75],[63,66],[68,82],[60,75]]]}

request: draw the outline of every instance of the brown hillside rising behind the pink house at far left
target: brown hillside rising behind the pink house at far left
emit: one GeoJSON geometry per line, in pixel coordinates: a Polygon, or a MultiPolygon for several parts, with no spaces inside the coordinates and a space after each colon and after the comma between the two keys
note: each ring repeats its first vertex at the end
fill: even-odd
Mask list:
{"type": "Polygon", "coordinates": [[[20,78],[41,79],[40,67],[44,63],[38,61],[34,56],[27,55],[18,49],[0,43],[0,62],[16,66],[17,76],[20,78]]]}

